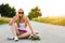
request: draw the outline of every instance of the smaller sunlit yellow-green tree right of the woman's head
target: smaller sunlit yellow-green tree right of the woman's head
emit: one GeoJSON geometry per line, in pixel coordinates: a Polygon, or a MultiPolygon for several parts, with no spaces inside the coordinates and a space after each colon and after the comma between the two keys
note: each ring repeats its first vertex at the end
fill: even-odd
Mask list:
{"type": "Polygon", "coordinates": [[[42,16],[40,9],[38,9],[38,6],[36,6],[35,9],[31,9],[31,11],[28,13],[29,19],[38,17],[38,16],[42,16]]]}

